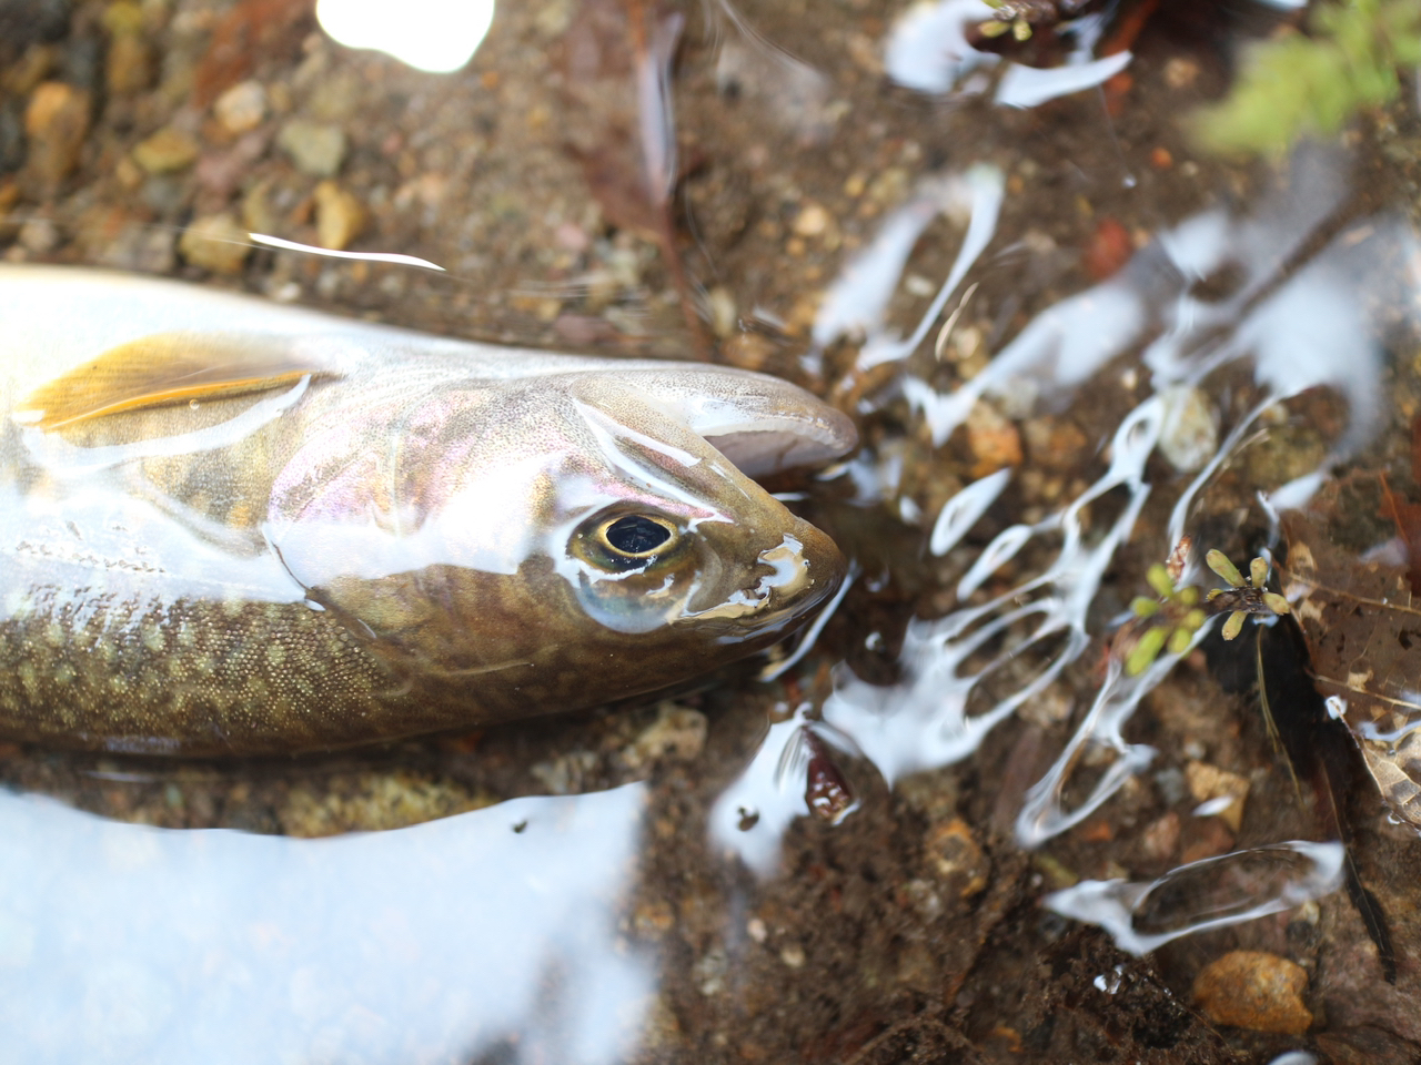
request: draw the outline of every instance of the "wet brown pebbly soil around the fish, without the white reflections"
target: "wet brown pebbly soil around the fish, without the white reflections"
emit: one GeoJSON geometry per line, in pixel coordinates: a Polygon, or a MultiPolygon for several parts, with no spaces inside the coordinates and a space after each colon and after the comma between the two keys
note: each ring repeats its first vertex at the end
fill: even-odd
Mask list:
{"type": "MultiPolygon", "coordinates": [[[[7,260],[168,274],[480,339],[669,358],[695,352],[665,250],[608,222],[567,148],[585,121],[556,61],[576,13],[571,0],[504,4],[472,64],[445,77],[334,45],[301,3],[135,4],[138,28],[126,33],[138,47],[115,45],[119,34],[105,7],[0,0],[0,13],[27,18],[23,34],[0,40],[7,260]],[[207,50],[233,33],[234,11],[259,20],[263,33],[227,70],[207,50]],[[119,77],[122,48],[122,62],[135,68],[119,77]],[[37,136],[20,132],[45,81],[88,94],[91,116],[72,168],[57,178],[36,169],[37,136]],[[242,81],[264,87],[267,108],[250,129],[233,132],[195,99],[210,101],[242,81]],[[280,148],[291,121],[342,133],[334,170],[280,148]],[[192,159],[172,169],[135,162],[134,149],[163,129],[190,142],[192,159]],[[367,216],[352,248],[419,256],[448,274],[269,248],[219,263],[182,244],[196,220],[217,216],[314,243],[323,180],[334,180],[367,216]]],[[[826,285],[919,178],[973,162],[1002,168],[1007,199],[999,236],[975,274],[980,288],[965,322],[979,346],[919,368],[946,388],[1036,312],[1108,273],[1110,241],[1120,234],[1117,260],[1204,207],[1249,202],[1273,180],[1268,168],[1198,156],[1177,121],[1222,91],[1225,44],[1239,27],[1221,9],[1177,7],[1191,10],[1164,6],[1147,24],[1128,85],[1032,111],[928,101],[892,87],[880,43],[897,9],[878,0],[743,7],[767,40],[823,74],[823,94],[807,101],[790,99],[783,65],[723,24],[718,37],[703,10],[685,11],[674,80],[682,176],[672,216],[676,250],[706,293],[716,358],[800,379],[861,415],[871,447],[904,457],[902,488],[885,504],[853,506],[833,484],[816,490],[809,515],[872,579],[851,592],[818,648],[786,679],[762,683],[742,669],[676,696],[674,707],[703,717],[703,744],[692,738],[669,754],[638,747],[668,716],[662,704],[301,763],[171,765],[11,746],[0,750],[0,777],[145,824],[328,835],[649,774],[637,888],[622,924],[628,941],[662,963],[638,1061],[1249,1062],[1297,1048],[1322,1061],[1415,1061],[1421,849],[1411,831],[1387,824],[1368,787],[1343,802],[1363,878],[1391,922],[1394,985],[1381,978],[1343,893],[1145,958],[1039,905],[1046,892],[1083,878],[1150,878],[1233,846],[1326,835],[1312,801],[1299,804],[1258,716],[1243,650],[1216,648],[1212,672],[1196,655],[1152,693],[1130,738],[1160,750],[1157,763],[1039,852],[1016,846],[1012,821],[1069,736],[1073,707],[1088,704],[1098,682],[1094,653],[958,765],[888,788],[871,764],[841,757],[858,808],[840,824],[796,819],[770,878],[706,843],[709,809],[755,754],[766,724],[801,701],[820,704],[836,663],[890,683],[908,621],[946,612],[962,572],[961,552],[926,555],[925,523],[912,515],[931,518],[979,476],[985,444],[959,435],[934,449],[885,388],[891,375],[851,372],[853,344],[830,351],[821,373],[806,371],[799,356],[826,285]],[[739,58],[726,60],[736,48],[739,58]],[[1188,763],[1246,780],[1239,825],[1188,816],[1188,763]],[[1192,1005],[1201,968],[1245,947],[1307,971],[1310,1032],[1221,1028],[1192,1005]],[[1118,980],[1103,990],[1097,978],[1111,973],[1118,980]]],[[[1373,197],[1415,202],[1414,125],[1414,116],[1384,116],[1350,133],[1376,160],[1367,165],[1378,178],[1368,186],[1373,197]]],[[[891,321],[911,328],[948,273],[959,233],[946,219],[928,227],[891,321]]],[[[1421,383],[1414,348],[1395,355],[1387,382],[1394,425],[1358,467],[1387,469],[1408,453],[1421,383]]],[[[1005,419],[1003,433],[1026,439],[1017,462],[1034,477],[1023,479],[965,550],[1098,476],[1104,459],[1096,442],[1144,395],[1127,369],[1101,372],[1090,402],[1005,419]]],[[[1336,402],[1326,396],[1289,410],[1279,435],[1286,429],[1293,439],[1273,450],[1265,442],[1211,490],[1211,542],[1236,558],[1256,547],[1258,528],[1248,524],[1256,515],[1239,518],[1252,494],[1287,480],[1299,452],[1324,450],[1329,413],[1336,420],[1336,402]]],[[[1164,464],[1151,469],[1175,476],[1164,464]]],[[[1147,508],[1103,595],[1113,602],[1100,605],[1101,619],[1144,589],[1145,567],[1168,550],[1167,517],[1164,504],[1147,508]]],[[[512,1059],[513,1047],[489,1058],[512,1059]]]]}

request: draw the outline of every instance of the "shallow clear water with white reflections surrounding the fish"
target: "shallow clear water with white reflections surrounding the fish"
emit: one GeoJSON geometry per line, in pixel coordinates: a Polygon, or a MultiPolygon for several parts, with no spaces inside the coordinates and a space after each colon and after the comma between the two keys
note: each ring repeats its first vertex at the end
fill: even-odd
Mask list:
{"type": "MultiPolygon", "coordinates": [[[[217,283],[684,356],[654,241],[608,233],[564,151],[610,122],[547,74],[573,6],[506,9],[453,77],[310,27],[249,71],[277,114],[246,136],[340,126],[357,246],[448,275],[259,250],[217,283]]],[[[952,38],[905,57],[897,9],[688,11],[679,247],[722,358],[807,382],[865,437],[790,486],[857,565],[816,645],[659,709],[338,761],[7,750],[0,1001],[21,1038],[0,1059],[1412,1059],[1414,832],[1368,778],[1341,795],[1393,985],[1322,870],[1334,849],[1289,843],[1333,835],[1235,694],[1255,645],[1201,630],[1137,677],[1108,649],[1184,532],[1242,564],[1323,493],[1361,551],[1395,532],[1376,471],[1417,496],[1414,105],[1277,168],[1209,158],[1179,118],[1279,16],[1208,10],[1154,16],[1131,85],[1032,108],[1002,101],[1076,85],[979,62],[979,91],[924,95],[952,38]],[[1182,1005],[1239,947],[1303,966],[1310,1034],[1182,1005]]],[[[239,204],[310,243],[317,178],[176,105],[223,11],[153,24],[162,81],[112,94],[77,178],[10,209],[4,254],[212,283],[176,233],[239,204]],[[200,145],[192,169],[115,169],[165,124],[200,145]]],[[[75,26],[57,71],[108,47],[75,26]]]]}

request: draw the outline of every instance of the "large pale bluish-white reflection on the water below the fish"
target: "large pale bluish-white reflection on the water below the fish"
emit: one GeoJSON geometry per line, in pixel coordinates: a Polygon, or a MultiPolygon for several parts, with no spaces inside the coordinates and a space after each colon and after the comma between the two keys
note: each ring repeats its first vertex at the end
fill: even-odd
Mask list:
{"type": "Polygon", "coordinates": [[[639,784],[335,839],[166,831],[0,792],[0,1061],[612,1062],[639,784]]]}

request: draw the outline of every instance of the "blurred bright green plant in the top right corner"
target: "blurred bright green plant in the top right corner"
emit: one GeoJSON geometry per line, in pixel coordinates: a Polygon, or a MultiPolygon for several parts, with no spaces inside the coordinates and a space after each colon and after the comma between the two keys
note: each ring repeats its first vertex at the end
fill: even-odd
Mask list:
{"type": "Polygon", "coordinates": [[[1400,70],[1421,62],[1421,4],[1343,0],[1314,4],[1307,34],[1255,44],[1229,95],[1199,112],[1212,151],[1283,156],[1306,135],[1330,135],[1357,111],[1401,92],[1400,70]]]}

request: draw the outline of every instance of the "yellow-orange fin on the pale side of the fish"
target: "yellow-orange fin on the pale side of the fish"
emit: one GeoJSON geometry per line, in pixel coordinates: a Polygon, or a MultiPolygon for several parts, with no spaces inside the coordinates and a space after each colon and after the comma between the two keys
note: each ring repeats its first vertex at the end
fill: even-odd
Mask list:
{"type": "Polygon", "coordinates": [[[58,429],[124,410],[227,399],[325,372],[311,362],[276,335],[159,332],[109,348],[41,385],[16,417],[58,429]]]}

